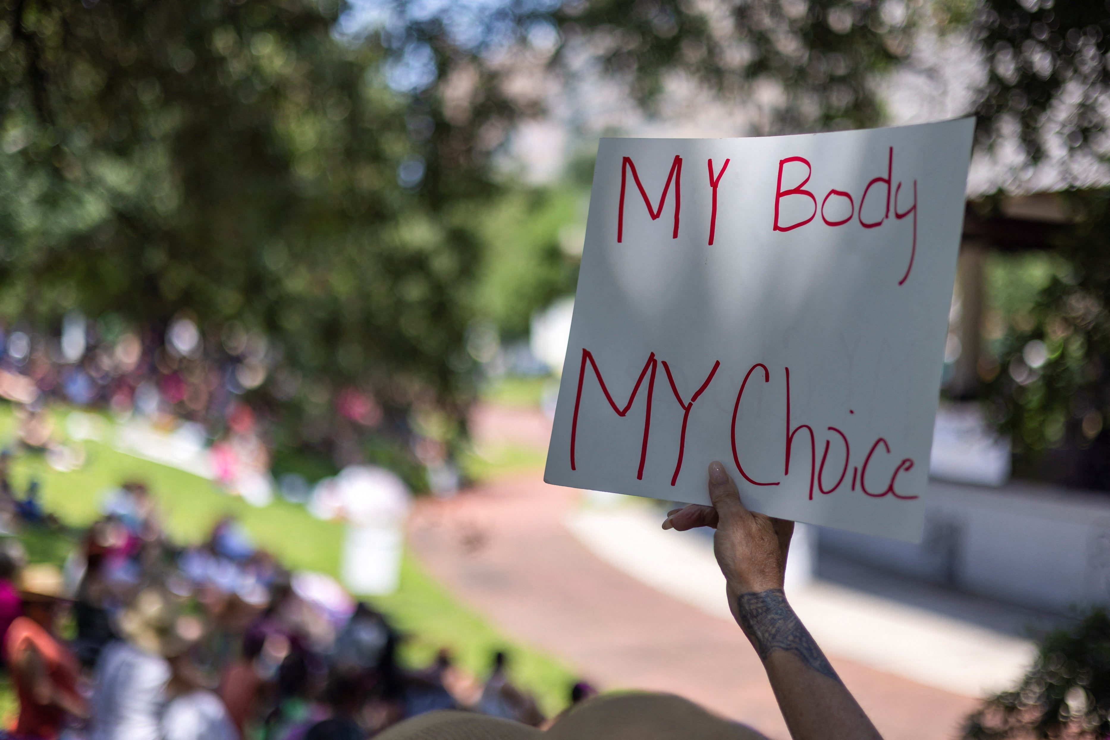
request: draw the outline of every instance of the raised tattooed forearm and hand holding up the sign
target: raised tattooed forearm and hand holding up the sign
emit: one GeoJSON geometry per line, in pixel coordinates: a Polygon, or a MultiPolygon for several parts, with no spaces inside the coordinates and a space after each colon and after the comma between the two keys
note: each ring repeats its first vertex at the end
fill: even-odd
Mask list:
{"type": "Polygon", "coordinates": [[[720,463],[709,465],[713,506],[675,509],[664,529],[715,527],[713,549],[728,606],[767,670],[794,740],[881,740],[783,592],[794,523],[749,511],[720,463]]]}

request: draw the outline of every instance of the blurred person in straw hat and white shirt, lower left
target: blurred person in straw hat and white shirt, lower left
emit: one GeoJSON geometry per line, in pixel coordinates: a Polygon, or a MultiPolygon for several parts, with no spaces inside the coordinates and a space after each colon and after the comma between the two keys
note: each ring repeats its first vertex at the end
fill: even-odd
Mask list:
{"type": "Polygon", "coordinates": [[[160,740],[165,687],[172,670],[165,659],[176,649],[176,610],[158,588],[144,588],[120,612],[117,631],[93,675],[90,740],[160,740]]]}

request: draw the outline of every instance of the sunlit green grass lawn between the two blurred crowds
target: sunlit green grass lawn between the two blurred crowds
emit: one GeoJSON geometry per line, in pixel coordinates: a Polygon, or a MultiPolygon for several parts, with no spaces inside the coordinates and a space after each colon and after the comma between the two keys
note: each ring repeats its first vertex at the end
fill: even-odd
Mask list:
{"type": "MultiPolygon", "coordinates": [[[[0,406],[0,444],[13,436],[11,410],[0,406]]],[[[103,491],[124,480],[142,480],[159,500],[167,531],[179,543],[201,541],[218,519],[231,515],[259,546],[273,553],[286,567],[339,577],[343,525],[315,519],[301,506],[284,500],[255,508],[189,473],[125,455],[107,444],[83,444],[85,464],[71,473],[52,469],[39,455],[14,459],[11,477],[16,489],[22,491],[32,478],[38,479],[44,508],[67,525],[84,526],[97,518],[103,491]]],[[[526,458],[522,454],[509,454],[507,460],[483,459],[485,467],[477,470],[480,477],[496,475],[506,465],[515,470],[535,463],[534,455],[526,458]]],[[[26,531],[20,539],[34,562],[60,564],[72,547],[63,537],[46,531],[26,531]]],[[[408,665],[425,665],[436,650],[445,647],[462,668],[482,676],[492,651],[505,649],[514,680],[536,696],[546,713],[566,706],[575,680],[567,668],[504,638],[481,616],[460,605],[411,554],[405,554],[398,590],[373,601],[408,636],[403,648],[403,659],[408,665]]],[[[11,707],[7,687],[0,687],[0,713],[11,707]]]]}

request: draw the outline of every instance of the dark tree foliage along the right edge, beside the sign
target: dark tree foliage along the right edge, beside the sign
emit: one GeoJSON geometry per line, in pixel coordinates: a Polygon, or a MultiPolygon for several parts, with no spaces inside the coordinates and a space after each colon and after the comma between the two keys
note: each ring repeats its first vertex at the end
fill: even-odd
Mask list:
{"type": "Polygon", "coordinates": [[[979,145],[1016,144],[1019,189],[1035,168],[1050,168],[1072,219],[1052,235],[1060,268],[996,343],[1001,372],[987,386],[995,419],[1013,440],[1019,472],[1110,489],[1110,10],[981,0],[963,12],[953,19],[988,71],[979,145]]]}

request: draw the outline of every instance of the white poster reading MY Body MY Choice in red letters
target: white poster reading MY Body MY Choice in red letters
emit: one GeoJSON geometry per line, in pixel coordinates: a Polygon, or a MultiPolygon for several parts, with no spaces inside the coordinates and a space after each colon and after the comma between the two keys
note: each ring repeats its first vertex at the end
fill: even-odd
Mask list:
{"type": "Polygon", "coordinates": [[[544,479],[918,540],[973,128],[603,139],[544,479]]]}

